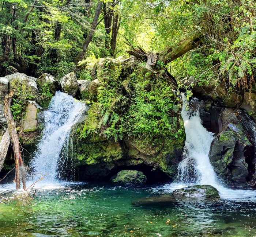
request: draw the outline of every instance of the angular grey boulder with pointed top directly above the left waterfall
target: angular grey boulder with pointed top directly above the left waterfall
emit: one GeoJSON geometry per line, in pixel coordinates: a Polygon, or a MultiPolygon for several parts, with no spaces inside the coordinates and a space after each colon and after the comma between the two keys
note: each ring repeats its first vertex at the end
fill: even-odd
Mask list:
{"type": "Polygon", "coordinates": [[[79,90],[79,85],[76,79],[76,74],[71,72],[60,79],[60,84],[63,92],[67,93],[69,96],[75,97],[77,91],[79,90]]]}

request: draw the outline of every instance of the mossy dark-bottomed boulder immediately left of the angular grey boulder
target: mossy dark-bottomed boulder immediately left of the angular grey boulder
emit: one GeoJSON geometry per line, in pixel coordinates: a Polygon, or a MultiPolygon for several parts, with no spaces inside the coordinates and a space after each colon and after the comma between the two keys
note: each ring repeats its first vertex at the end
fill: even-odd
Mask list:
{"type": "Polygon", "coordinates": [[[39,90],[42,90],[46,85],[49,86],[52,94],[55,94],[56,90],[61,90],[60,82],[48,73],[42,74],[40,77],[35,79],[35,82],[37,83],[39,90]]]}

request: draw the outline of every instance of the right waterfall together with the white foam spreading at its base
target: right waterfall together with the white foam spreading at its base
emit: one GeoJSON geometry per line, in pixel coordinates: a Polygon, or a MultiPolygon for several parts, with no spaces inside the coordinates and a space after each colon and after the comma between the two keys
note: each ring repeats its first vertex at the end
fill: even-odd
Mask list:
{"type": "Polygon", "coordinates": [[[174,189],[186,186],[209,184],[219,191],[221,198],[255,200],[256,191],[228,189],[217,179],[208,156],[214,134],[203,127],[198,109],[196,111],[189,110],[184,94],[182,94],[182,100],[181,116],[184,120],[186,141],[182,154],[184,159],[178,166],[178,183],[166,184],[154,190],[160,189],[170,193],[174,189]]]}

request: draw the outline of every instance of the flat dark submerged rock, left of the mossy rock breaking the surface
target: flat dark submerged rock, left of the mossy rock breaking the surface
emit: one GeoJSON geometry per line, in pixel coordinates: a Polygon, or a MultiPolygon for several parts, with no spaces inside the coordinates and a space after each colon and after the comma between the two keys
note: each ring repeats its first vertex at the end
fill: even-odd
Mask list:
{"type": "Polygon", "coordinates": [[[132,202],[132,205],[145,206],[145,205],[158,205],[166,203],[177,202],[172,195],[161,195],[154,197],[139,198],[132,202]]]}

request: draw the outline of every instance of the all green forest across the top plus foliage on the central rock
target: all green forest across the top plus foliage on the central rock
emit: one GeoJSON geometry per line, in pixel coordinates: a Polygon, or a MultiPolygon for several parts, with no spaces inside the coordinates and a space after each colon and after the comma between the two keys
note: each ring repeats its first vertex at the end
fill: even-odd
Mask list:
{"type": "MultiPolygon", "coordinates": [[[[131,136],[156,143],[183,136],[180,102],[166,73],[176,81],[193,75],[188,89],[197,83],[214,90],[224,82],[229,92],[255,90],[252,0],[4,0],[0,9],[1,75],[50,73],[60,79],[76,71],[79,79],[100,79],[97,94],[88,98],[96,125],[85,124],[83,138],[131,136]],[[159,56],[154,73],[143,69],[147,51],[159,56]],[[98,58],[136,52],[142,57],[134,65],[104,65],[95,72],[98,58]]],[[[48,92],[46,86],[42,97],[48,92]]],[[[24,106],[14,101],[15,119],[24,106]]]]}

